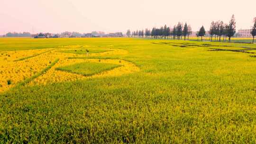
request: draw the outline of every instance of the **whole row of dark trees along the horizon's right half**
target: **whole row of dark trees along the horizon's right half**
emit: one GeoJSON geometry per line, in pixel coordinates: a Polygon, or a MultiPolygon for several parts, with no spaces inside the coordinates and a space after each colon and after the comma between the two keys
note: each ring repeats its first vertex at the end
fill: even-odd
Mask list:
{"type": "MultiPolygon", "coordinates": [[[[208,31],[210,35],[210,41],[227,41],[227,38],[230,42],[231,37],[236,34],[236,19],[235,16],[232,15],[229,24],[225,24],[223,21],[212,21],[210,24],[210,30],[208,31]]],[[[178,22],[173,28],[167,27],[153,27],[152,30],[145,29],[144,30],[137,30],[131,32],[130,30],[127,31],[127,36],[130,37],[150,37],[155,39],[189,39],[189,36],[192,35],[192,28],[190,25],[185,23],[184,25],[181,22],[178,22]]],[[[201,37],[201,41],[203,40],[203,36],[206,35],[205,28],[202,26],[199,31],[197,31],[196,36],[201,37]]],[[[251,35],[254,38],[256,36],[256,18],[254,19],[254,25],[251,30],[251,35]]]]}

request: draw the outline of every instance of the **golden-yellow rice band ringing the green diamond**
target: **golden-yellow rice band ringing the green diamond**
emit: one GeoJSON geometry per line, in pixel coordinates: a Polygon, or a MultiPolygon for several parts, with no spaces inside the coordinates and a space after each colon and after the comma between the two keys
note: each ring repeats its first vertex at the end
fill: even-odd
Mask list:
{"type": "Polygon", "coordinates": [[[30,85],[34,84],[47,84],[47,83],[55,83],[55,82],[64,82],[64,81],[75,81],[75,80],[84,80],[88,78],[98,78],[98,77],[106,77],[106,76],[120,76],[122,74],[128,74],[132,72],[138,72],[139,68],[130,62],[123,60],[112,60],[112,59],[66,59],[59,61],[55,64],[49,71],[45,74],[37,77],[35,80],[30,82],[30,85]],[[114,68],[110,71],[100,72],[98,74],[92,76],[83,76],[81,74],[75,74],[71,72],[63,72],[57,71],[55,68],[72,65],[75,63],[112,63],[122,65],[118,68],[114,68]]]}

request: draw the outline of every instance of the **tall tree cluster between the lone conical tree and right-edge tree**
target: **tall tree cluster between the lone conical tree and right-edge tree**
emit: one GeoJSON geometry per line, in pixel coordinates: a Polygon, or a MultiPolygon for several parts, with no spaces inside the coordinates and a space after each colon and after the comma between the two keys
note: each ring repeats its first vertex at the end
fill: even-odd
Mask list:
{"type": "Polygon", "coordinates": [[[214,41],[216,41],[216,37],[217,37],[217,40],[219,40],[220,42],[220,38],[221,36],[223,36],[223,41],[227,40],[227,37],[229,37],[229,42],[230,42],[230,38],[234,36],[235,33],[236,33],[236,20],[234,15],[229,21],[229,24],[224,24],[223,21],[216,21],[216,22],[212,21],[210,24],[210,30],[209,30],[210,41],[212,41],[212,37],[215,36],[214,41]]]}

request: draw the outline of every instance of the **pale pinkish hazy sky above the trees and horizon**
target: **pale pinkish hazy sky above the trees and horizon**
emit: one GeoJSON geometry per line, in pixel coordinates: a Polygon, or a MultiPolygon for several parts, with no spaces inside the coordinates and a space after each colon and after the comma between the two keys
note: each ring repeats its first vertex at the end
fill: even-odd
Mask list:
{"type": "Polygon", "coordinates": [[[197,31],[212,20],[250,28],[256,0],[1,0],[0,34],[7,32],[125,32],[187,22],[197,31]]]}

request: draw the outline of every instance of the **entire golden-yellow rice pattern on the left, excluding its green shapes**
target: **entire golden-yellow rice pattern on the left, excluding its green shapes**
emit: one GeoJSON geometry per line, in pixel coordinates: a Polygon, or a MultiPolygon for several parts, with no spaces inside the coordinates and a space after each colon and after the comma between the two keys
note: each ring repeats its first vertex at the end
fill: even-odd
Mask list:
{"type": "Polygon", "coordinates": [[[55,68],[59,66],[80,63],[80,62],[99,62],[99,59],[68,59],[68,57],[91,57],[91,56],[109,56],[109,55],[121,55],[128,54],[127,50],[123,49],[111,49],[113,45],[102,46],[100,49],[106,50],[101,53],[91,54],[73,54],[62,53],[62,50],[68,49],[97,49],[93,45],[68,45],[59,46],[57,48],[47,48],[38,50],[20,50],[20,51],[3,51],[0,52],[0,92],[9,90],[19,82],[35,75],[38,72],[43,71],[56,59],[59,62],[55,64],[48,72],[39,76],[29,84],[47,84],[61,81],[75,81],[78,79],[88,79],[104,76],[119,76],[126,73],[137,72],[139,69],[133,63],[123,60],[110,60],[103,59],[101,63],[113,63],[120,64],[121,67],[115,68],[110,71],[101,72],[92,76],[82,76],[80,74],[74,74],[69,72],[56,71],[55,68]],[[121,62],[121,63],[120,63],[121,62]]]}

